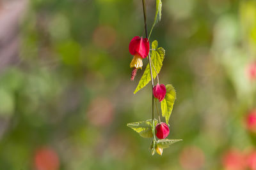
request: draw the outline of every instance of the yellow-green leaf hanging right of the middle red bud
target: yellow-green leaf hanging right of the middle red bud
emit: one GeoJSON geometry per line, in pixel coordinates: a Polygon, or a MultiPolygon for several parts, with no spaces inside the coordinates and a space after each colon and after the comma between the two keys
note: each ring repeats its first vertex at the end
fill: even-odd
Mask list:
{"type": "Polygon", "coordinates": [[[176,91],[172,85],[166,85],[166,95],[161,101],[162,116],[165,117],[166,124],[172,114],[173,104],[176,99],[176,91]]]}

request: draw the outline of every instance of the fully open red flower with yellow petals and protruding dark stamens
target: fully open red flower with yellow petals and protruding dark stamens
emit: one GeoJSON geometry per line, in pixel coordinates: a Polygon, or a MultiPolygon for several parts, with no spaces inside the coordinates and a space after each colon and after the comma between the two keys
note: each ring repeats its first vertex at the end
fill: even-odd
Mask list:
{"type": "Polygon", "coordinates": [[[142,66],[143,66],[142,59],[145,59],[148,56],[148,52],[149,52],[148,39],[142,38],[139,36],[134,36],[134,38],[132,38],[129,44],[129,52],[131,53],[131,55],[134,55],[132,62],[130,64],[130,67],[134,68],[131,76],[131,80],[134,80],[137,69],[142,69],[142,66]]]}

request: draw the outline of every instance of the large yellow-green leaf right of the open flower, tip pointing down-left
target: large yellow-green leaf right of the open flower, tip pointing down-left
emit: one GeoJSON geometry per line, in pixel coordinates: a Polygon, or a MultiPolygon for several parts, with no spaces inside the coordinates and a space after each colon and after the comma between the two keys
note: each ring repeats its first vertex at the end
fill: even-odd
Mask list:
{"type": "MultiPolygon", "coordinates": [[[[151,60],[152,60],[152,64],[154,65],[157,74],[159,74],[161,67],[163,66],[163,60],[164,60],[164,55],[165,55],[165,50],[162,47],[157,48],[157,41],[153,41],[152,42],[152,52],[151,52],[151,60]]],[[[152,65],[151,64],[151,65],[152,65]]],[[[154,67],[152,66],[152,73],[153,73],[153,78],[156,78],[156,71],[154,69],[154,67]]],[[[141,80],[138,84],[138,86],[136,87],[136,89],[134,90],[134,94],[136,94],[136,92],[138,92],[140,89],[142,89],[143,87],[145,87],[148,82],[151,80],[150,77],[150,67],[149,67],[149,63],[141,77],[141,80]]]]}

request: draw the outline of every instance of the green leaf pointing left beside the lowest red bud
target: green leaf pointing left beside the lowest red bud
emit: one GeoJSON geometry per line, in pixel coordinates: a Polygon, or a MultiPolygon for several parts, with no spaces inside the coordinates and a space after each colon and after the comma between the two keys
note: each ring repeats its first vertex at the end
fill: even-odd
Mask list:
{"type": "MultiPolygon", "coordinates": [[[[157,125],[157,120],[154,119],[155,127],[157,125]]],[[[152,138],[153,132],[152,132],[152,119],[146,120],[143,122],[134,122],[127,124],[128,127],[131,127],[134,131],[138,132],[140,136],[143,138],[152,138]]]]}

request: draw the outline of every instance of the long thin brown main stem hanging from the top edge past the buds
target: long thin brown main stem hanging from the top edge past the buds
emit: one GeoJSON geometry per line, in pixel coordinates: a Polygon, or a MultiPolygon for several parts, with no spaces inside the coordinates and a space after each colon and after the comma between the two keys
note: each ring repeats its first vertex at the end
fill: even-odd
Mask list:
{"type": "MultiPolygon", "coordinates": [[[[148,38],[148,32],[147,32],[147,14],[146,14],[146,6],[145,6],[145,0],[142,1],[143,6],[143,15],[144,15],[144,25],[145,25],[145,35],[146,38],[148,38]]],[[[151,61],[150,61],[150,54],[148,53],[148,62],[150,67],[150,76],[151,76],[151,84],[152,84],[152,127],[153,127],[153,139],[156,140],[155,136],[155,120],[154,120],[154,95],[153,95],[153,88],[154,88],[154,79],[152,74],[152,67],[151,67],[151,61]]]]}

